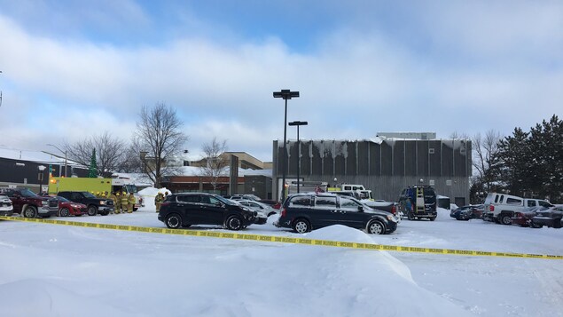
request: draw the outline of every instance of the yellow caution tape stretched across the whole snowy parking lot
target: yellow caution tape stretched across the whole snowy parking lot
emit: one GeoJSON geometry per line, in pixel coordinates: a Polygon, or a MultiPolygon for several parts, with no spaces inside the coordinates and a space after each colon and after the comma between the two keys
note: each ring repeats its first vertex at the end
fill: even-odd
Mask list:
{"type": "Polygon", "coordinates": [[[375,243],[340,242],[340,241],[317,240],[317,239],[307,239],[307,238],[293,238],[293,237],[285,237],[285,236],[277,236],[277,235],[223,233],[223,232],[207,231],[207,230],[152,228],[146,226],[106,225],[106,224],[95,224],[89,222],[53,220],[53,219],[44,219],[44,218],[21,218],[21,217],[0,216],[0,220],[39,222],[43,224],[53,224],[53,225],[62,225],[62,226],[82,226],[87,228],[135,231],[139,233],[148,233],[148,234],[177,234],[177,235],[190,235],[190,236],[223,238],[223,239],[238,239],[238,240],[260,241],[260,242],[308,244],[308,245],[319,245],[325,247],[338,247],[338,248],[349,248],[349,249],[360,249],[360,250],[384,250],[384,251],[413,252],[413,253],[433,253],[433,254],[446,254],[446,255],[456,255],[456,256],[466,256],[466,257],[545,258],[545,259],[556,259],[556,260],[563,259],[563,256],[555,256],[549,254],[403,247],[397,245],[385,245],[385,244],[375,244],[375,243]]]}

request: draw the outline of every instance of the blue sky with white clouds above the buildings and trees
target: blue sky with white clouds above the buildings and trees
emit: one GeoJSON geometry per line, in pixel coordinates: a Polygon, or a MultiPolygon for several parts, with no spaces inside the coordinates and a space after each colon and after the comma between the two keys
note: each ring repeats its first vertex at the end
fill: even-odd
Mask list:
{"type": "Polygon", "coordinates": [[[0,0],[0,71],[0,147],[129,141],[164,102],[192,154],[270,161],[281,89],[304,139],[508,135],[562,114],[563,2],[0,0]]]}

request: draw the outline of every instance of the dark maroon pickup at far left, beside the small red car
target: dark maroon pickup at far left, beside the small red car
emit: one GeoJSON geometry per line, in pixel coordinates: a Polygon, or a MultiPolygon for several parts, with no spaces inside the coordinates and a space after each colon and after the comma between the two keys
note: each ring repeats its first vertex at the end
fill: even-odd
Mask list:
{"type": "Polygon", "coordinates": [[[56,216],[59,201],[35,194],[27,188],[0,188],[0,194],[10,197],[13,212],[26,218],[56,216]]]}

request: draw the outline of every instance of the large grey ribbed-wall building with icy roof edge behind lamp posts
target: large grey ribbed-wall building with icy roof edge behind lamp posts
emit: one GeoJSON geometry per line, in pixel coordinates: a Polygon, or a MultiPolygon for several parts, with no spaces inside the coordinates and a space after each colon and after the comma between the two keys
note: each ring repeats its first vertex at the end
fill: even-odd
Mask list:
{"type": "MultiPolygon", "coordinates": [[[[381,134],[364,140],[289,141],[286,178],[297,178],[301,162],[300,176],[304,181],[362,184],[371,189],[375,199],[387,201],[396,201],[405,186],[430,185],[436,194],[464,205],[469,202],[472,175],[471,140],[433,138],[433,133],[394,133],[393,138],[381,134]]],[[[282,188],[281,155],[283,144],[274,141],[272,192],[276,198],[281,196],[282,188]]]]}

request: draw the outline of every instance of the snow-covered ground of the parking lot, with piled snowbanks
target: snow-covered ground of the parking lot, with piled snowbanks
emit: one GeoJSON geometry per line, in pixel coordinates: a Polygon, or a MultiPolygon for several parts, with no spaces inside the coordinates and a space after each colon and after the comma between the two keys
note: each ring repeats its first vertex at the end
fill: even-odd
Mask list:
{"type": "MultiPolygon", "coordinates": [[[[75,221],[164,227],[133,214],[75,221]]],[[[301,236],[272,226],[246,233],[301,236]]],[[[223,231],[214,226],[205,230],[223,231]]],[[[563,254],[563,230],[403,220],[312,239],[563,254]]],[[[462,257],[0,221],[0,316],[563,316],[561,260],[462,257]]]]}

